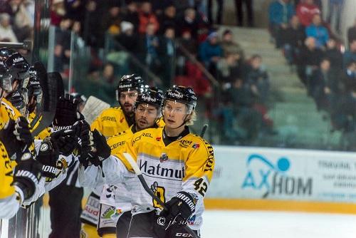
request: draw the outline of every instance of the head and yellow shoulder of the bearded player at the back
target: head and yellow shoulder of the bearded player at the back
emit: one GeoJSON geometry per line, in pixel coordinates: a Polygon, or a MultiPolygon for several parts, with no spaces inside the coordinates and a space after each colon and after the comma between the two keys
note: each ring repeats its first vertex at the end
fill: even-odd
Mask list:
{"type": "Polygon", "coordinates": [[[103,110],[90,126],[91,130],[96,129],[106,137],[127,130],[134,122],[133,107],[142,86],[141,76],[122,76],[116,90],[116,100],[120,107],[103,110]]]}

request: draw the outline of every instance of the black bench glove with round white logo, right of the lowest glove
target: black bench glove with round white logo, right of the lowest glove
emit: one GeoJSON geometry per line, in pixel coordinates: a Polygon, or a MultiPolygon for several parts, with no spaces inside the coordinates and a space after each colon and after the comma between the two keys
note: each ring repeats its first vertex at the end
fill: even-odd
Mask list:
{"type": "Polygon", "coordinates": [[[41,143],[36,159],[41,162],[43,177],[55,178],[57,176],[57,161],[59,153],[53,150],[51,140],[45,138],[41,143]]]}

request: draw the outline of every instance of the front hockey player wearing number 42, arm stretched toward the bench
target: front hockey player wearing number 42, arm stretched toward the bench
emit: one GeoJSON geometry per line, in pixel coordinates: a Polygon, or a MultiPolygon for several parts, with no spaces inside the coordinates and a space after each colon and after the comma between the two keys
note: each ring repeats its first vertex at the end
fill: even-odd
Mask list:
{"type": "Polygon", "coordinates": [[[137,185],[137,180],[127,180],[133,206],[128,237],[189,237],[184,224],[199,234],[203,199],[214,170],[214,152],[204,139],[189,133],[187,125],[193,123],[196,105],[192,88],[173,86],[164,94],[164,128],[135,133],[115,155],[107,156],[108,148],[95,131],[93,141],[83,135],[83,145],[94,143],[95,149],[83,146],[90,150],[90,159],[102,160],[101,168],[80,167],[84,186],[125,182],[132,176],[132,167],[123,154],[127,152],[136,160],[147,184],[165,202],[167,210],[161,211],[162,207],[137,185]]]}

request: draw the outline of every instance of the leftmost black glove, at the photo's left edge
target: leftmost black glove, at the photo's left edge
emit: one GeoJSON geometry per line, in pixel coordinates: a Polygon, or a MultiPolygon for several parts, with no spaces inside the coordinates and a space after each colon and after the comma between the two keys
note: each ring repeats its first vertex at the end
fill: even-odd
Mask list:
{"type": "Polygon", "coordinates": [[[28,122],[23,117],[16,121],[9,120],[0,131],[0,138],[11,160],[19,160],[23,152],[33,143],[28,122]]]}

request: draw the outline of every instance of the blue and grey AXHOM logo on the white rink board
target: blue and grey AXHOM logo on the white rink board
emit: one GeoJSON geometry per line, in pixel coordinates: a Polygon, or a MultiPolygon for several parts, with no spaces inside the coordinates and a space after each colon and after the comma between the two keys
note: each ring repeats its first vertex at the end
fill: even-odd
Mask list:
{"type": "Polygon", "coordinates": [[[313,192],[312,178],[287,175],[290,160],[286,157],[279,158],[274,164],[263,155],[253,154],[247,158],[246,166],[248,172],[241,187],[261,190],[264,192],[262,198],[268,195],[310,196],[313,192]]]}

